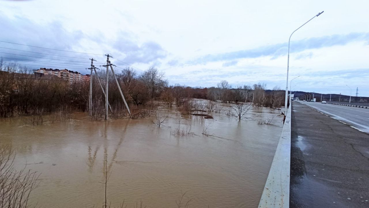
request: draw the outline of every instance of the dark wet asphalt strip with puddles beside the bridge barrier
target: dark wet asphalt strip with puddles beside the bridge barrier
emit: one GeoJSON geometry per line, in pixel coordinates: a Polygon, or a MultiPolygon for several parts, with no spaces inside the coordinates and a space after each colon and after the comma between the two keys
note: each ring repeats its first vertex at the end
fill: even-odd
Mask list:
{"type": "Polygon", "coordinates": [[[291,208],[368,208],[369,134],[292,103],[291,208]]]}

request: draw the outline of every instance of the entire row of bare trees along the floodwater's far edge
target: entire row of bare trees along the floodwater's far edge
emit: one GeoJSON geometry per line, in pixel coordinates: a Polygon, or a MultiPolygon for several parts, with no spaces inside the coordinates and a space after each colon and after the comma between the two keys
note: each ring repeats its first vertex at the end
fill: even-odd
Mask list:
{"type": "MultiPolygon", "coordinates": [[[[89,82],[72,85],[54,75],[37,76],[27,67],[17,64],[0,65],[0,116],[35,115],[59,110],[89,111],[89,82]]],[[[127,67],[115,70],[117,80],[128,106],[133,110],[155,110],[154,101],[167,106],[181,106],[191,98],[214,100],[225,103],[249,102],[254,106],[280,108],[284,91],[278,87],[266,90],[262,83],[232,88],[227,81],[217,87],[191,88],[181,85],[169,86],[162,72],[151,67],[138,75],[127,67]]],[[[92,112],[96,117],[104,115],[106,71],[98,72],[102,88],[93,76],[92,112]]],[[[108,101],[114,115],[126,116],[126,110],[111,71],[109,72],[108,101]]]]}

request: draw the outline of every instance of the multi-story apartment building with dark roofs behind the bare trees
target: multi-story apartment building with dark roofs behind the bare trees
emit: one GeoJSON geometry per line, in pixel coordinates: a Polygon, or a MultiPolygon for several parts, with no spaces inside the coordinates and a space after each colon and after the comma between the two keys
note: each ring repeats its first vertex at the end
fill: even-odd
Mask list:
{"type": "Polygon", "coordinates": [[[82,75],[79,72],[70,71],[68,69],[46,69],[40,68],[34,70],[34,73],[41,73],[41,74],[48,74],[48,75],[55,75],[62,79],[65,79],[70,84],[82,82],[82,81],[90,81],[90,75],[82,75]]]}

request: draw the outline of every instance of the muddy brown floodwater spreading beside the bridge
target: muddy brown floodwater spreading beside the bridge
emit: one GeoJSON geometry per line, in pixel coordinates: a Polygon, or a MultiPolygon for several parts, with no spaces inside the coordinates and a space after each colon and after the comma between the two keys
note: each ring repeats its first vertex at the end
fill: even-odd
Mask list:
{"type": "Polygon", "coordinates": [[[31,195],[37,207],[102,207],[107,167],[111,207],[141,200],[148,208],[177,207],[185,193],[189,207],[256,208],[282,131],[280,111],[258,108],[240,121],[225,111],[211,113],[214,119],[183,117],[190,134],[179,136],[171,133],[178,112],[160,110],[169,115],[160,128],[153,116],[91,121],[79,114],[40,126],[2,119],[0,141],[16,149],[17,168],[41,173],[31,195]],[[273,125],[258,125],[265,116],[275,116],[273,125]],[[207,126],[213,136],[202,134],[207,126]]]}

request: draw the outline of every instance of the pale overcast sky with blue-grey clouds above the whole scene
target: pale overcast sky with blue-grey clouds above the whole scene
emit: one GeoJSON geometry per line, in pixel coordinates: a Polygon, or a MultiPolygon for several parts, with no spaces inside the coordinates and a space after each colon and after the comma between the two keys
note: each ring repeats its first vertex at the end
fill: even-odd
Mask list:
{"type": "MultiPolygon", "coordinates": [[[[234,86],[264,82],[268,89],[276,85],[285,89],[288,38],[324,10],[291,38],[290,79],[300,75],[292,82],[292,90],[349,95],[349,86],[353,96],[356,87],[359,96],[369,96],[368,8],[367,0],[7,0],[0,1],[0,41],[109,53],[142,70],[157,67],[165,72],[170,84],[209,87],[227,80],[234,86]]],[[[86,61],[65,63],[69,63],[70,70],[87,73],[83,65],[72,69],[73,63],[87,64],[87,59],[45,54],[106,61],[103,55],[4,42],[0,47],[0,52],[8,53],[0,56],[13,58],[4,61],[29,64],[32,69],[62,62],[35,58],[46,57],[86,61]]],[[[127,67],[115,59],[111,61],[127,67]]],[[[57,66],[66,68],[63,64],[57,66]]]]}

